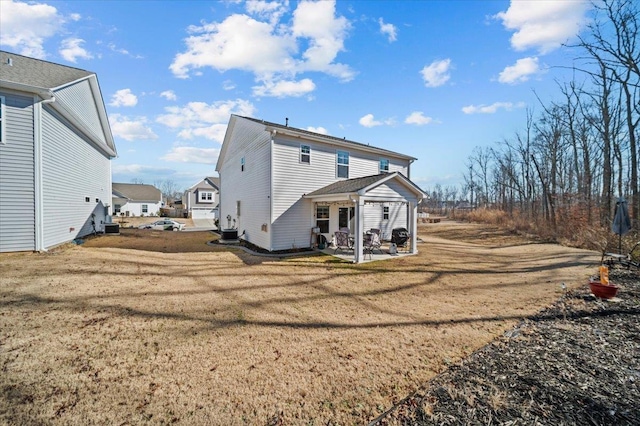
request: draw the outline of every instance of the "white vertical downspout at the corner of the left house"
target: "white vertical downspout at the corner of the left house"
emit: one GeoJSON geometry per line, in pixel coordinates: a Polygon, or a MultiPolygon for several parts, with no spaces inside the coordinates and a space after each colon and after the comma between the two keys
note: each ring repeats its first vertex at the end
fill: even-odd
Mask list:
{"type": "Polygon", "coordinates": [[[39,91],[34,97],[33,109],[33,139],[34,139],[34,204],[35,204],[35,249],[36,251],[47,251],[44,245],[44,193],[42,190],[42,105],[51,104],[56,101],[56,97],[51,91],[39,91]]]}

